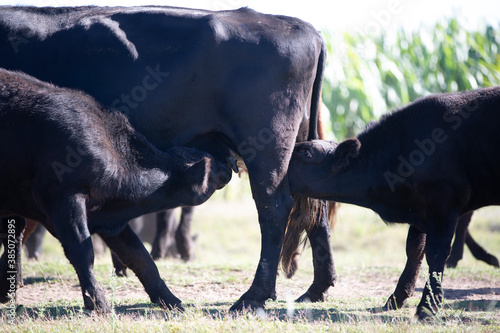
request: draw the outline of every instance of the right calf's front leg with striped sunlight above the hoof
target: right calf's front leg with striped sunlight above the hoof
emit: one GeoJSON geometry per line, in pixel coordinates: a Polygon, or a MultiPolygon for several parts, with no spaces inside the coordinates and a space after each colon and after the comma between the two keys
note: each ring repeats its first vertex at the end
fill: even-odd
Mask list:
{"type": "Polygon", "coordinates": [[[428,221],[425,256],[429,265],[429,279],[417,307],[416,316],[420,320],[434,318],[443,303],[443,271],[450,254],[457,217],[442,216],[445,217],[428,221]]]}

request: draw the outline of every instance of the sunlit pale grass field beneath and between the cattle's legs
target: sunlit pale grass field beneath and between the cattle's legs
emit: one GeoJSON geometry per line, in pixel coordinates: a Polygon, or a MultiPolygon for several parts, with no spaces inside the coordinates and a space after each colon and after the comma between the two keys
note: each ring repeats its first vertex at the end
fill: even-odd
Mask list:
{"type": "MultiPolygon", "coordinates": [[[[338,281],[327,302],[293,302],[312,282],[306,248],[296,276],[278,276],[278,299],[268,301],[265,312],[234,315],[228,309],[252,283],[260,253],[257,213],[248,189],[237,185],[217,194],[196,210],[194,219],[196,258],[187,264],[157,262],[169,288],[183,300],[184,313],[151,304],[133,274],[115,277],[109,255],[97,258],[95,271],[114,312],[100,317],[83,310],[76,274],[59,243],[47,237],[41,260],[24,261],[16,322],[0,325],[0,332],[500,331],[500,270],[476,261],[468,250],[458,268],[445,271],[446,301],[436,322],[413,319],[427,267],[405,308],[380,312],[404,267],[407,226],[386,226],[371,211],[348,205],[341,206],[332,234],[338,281]]],[[[496,256],[499,221],[500,208],[489,207],[478,211],[471,224],[472,235],[496,256]]]]}

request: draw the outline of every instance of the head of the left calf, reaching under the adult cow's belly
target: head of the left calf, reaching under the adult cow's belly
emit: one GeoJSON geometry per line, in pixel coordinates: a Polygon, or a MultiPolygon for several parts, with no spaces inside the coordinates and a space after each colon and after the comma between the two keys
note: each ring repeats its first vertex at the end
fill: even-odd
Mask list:
{"type": "Polygon", "coordinates": [[[212,155],[186,147],[170,149],[172,175],[168,194],[179,206],[204,203],[231,180],[231,169],[212,155]]]}

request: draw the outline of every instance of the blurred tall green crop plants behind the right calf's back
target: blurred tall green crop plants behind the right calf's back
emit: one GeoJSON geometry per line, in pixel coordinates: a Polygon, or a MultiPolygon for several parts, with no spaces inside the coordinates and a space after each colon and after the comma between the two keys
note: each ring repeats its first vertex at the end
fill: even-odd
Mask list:
{"type": "Polygon", "coordinates": [[[325,37],[323,102],[339,140],[419,97],[500,84],[498,27],[469,31],[452,18],[419,31],[325,37]]]}

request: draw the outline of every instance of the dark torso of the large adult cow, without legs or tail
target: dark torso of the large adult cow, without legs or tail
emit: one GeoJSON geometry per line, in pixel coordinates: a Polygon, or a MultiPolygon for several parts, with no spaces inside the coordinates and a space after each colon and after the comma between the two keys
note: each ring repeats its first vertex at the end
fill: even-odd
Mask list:
{"type": "Polygon", "coordinates": [[[2,21],[0,66],[89,93],[162,148],[209,132],[238,145],[271,126],[265,107],[283,107],[256,96],[273,103],[286,89],[300,95],[286,97],[285,117],[307,119],[322,47],[309,24],[250,9],[4,7],[2,21]],[[42,28],[13,24],[13,11],[42,28]]]}

